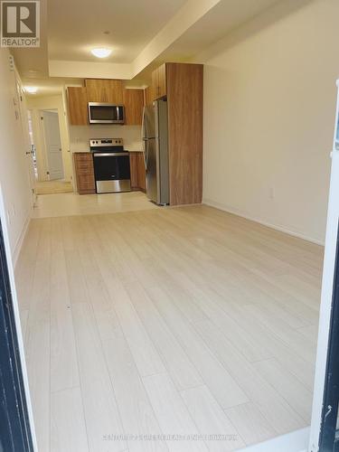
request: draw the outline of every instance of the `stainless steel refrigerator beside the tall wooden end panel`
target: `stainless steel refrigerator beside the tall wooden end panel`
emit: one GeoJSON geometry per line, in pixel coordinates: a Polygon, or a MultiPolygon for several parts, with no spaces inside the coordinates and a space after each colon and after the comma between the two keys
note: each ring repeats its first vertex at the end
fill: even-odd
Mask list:
{"type": "Polygon", "coordinates": [[[169,204],[167,102],[158,99],[144,108],[143,143],[146,194],[159,205],[169,204]]]}

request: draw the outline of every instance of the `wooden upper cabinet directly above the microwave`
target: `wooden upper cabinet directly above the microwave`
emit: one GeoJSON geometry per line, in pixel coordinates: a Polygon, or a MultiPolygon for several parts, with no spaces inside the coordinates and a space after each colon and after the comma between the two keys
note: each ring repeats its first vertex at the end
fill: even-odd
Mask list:
{"type": "Polygon", "coordinates": [[[86,79],[85,86],[89,102],[123,105],[122,80],[86,79]]]}

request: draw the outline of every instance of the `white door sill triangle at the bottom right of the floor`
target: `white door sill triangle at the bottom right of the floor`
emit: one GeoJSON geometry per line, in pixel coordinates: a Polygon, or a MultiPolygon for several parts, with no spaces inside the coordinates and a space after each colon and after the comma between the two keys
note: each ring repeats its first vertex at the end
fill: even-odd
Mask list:
{"type": "Polygon", "coordinates": [[[240,449],[239,452],[306,452],[309,434],[309,427],[301,428],[255,446],[245,447],[240,449]]]}

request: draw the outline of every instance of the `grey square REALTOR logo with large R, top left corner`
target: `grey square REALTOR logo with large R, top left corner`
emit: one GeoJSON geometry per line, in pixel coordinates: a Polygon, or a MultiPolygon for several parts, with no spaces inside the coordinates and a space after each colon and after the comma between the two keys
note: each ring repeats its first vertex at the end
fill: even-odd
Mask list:
{"type": "Polygon", "coordinates": [[[40,47],[40,1],[1,1],[1,47],[40,47]]]}

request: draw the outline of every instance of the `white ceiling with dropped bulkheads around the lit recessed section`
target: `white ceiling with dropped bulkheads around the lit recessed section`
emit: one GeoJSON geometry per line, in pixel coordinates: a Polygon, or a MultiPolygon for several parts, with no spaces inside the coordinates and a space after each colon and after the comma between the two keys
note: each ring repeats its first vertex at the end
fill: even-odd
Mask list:
{"type": "Polygon", "coordinates": [[[160,62],[190,61],[264,10],[274,22],[309,1],[48,0],[47,7],[41,0],[42,47],[14,49],[14,59],[23,79],[40,79],[45,93],[52,85],[60,89],[57,77],[63,84],[67,78],[138,79],[142,86],[160,62]],[[89,52],[96,46],[112,47],[112,55],[96,59],[89,52]]]}

